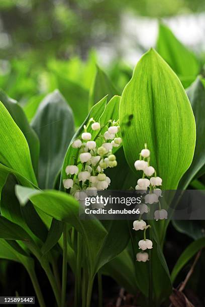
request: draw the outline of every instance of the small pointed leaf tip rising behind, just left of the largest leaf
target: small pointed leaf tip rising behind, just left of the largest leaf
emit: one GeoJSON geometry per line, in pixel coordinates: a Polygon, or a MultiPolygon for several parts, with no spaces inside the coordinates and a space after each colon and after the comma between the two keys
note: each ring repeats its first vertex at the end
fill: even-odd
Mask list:
{"type": "Polygon", "coordinates": [[[96,74],[89,93],[89,108],[106,95],[108,95],[109,101],[114,95],[118,94],[119,91],[115,88],[106,73],[97,66],[96,74]]]}

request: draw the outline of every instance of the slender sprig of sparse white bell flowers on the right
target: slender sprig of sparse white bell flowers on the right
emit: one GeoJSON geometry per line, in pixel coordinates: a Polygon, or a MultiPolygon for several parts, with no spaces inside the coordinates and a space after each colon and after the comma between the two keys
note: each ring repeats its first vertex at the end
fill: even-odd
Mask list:
{"type": "Polygon", "coordinates": [[[156,210],[154,217],[156,220],[166,219],[167,212],[164,209],[161,209],[159,198],[162,196],[161,189],[157,188],[162,185],[162,179],[157,176],[155,169],[150,166],[150,150],[145,148],[140,152],[140,159],[134,163],[135,169],[137,171],[143,171],[142,178],[137,181],[135,190],[140,190],[144,196],[144,203],[139,205],[140,217],[138,221],[134,221],[133,229],[134,230],[144,230],[144,239],[140,240],[138,245],[142,252],[137,253],[137,261],[146,262],[149,260],[149,254],[144,252],[146,249],[152,248],[152,241],[146,239],[146,230],[151,227],[147,225],[145,221],[141,220],[141,217],[144,213],[149,212],[149,204],[158,203],[159,210],[156,210]]]}

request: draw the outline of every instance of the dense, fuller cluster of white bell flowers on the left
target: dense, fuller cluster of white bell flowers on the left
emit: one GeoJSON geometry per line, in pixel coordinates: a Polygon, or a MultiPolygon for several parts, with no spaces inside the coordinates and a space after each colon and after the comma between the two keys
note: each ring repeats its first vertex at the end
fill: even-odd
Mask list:
{"type": "Polygon", "coordinates": [[[97,190],[105,190],[110,185],[111,180],[104,171],[117,166],[112,150],[122,143],[119,131],[118,121],[109,120],[101,127],[99,122],[90,118],[81,136],[72,142],[77,155],[73,165],[65,169],[67,179],[63,180],[63,185],[70,189],[75,199],[83,201],[87,195],[95,196],[97,190]],[[87,132],[90,125],[92,133],[87,132]]]}

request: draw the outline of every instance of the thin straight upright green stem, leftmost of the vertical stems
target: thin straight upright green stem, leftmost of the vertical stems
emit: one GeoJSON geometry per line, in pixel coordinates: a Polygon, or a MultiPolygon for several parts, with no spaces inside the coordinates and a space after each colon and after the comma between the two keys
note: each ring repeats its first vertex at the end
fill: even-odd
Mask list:
{"type": "Polygon", "coordinates": [[[64,224],[63,230],[63,266],[62,266],[62,288],[61,288],[61,307],[65,306],[66,281],[67,281],[67,227],[64,224]]]}

